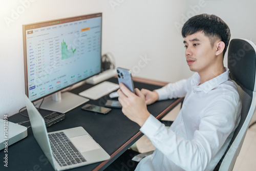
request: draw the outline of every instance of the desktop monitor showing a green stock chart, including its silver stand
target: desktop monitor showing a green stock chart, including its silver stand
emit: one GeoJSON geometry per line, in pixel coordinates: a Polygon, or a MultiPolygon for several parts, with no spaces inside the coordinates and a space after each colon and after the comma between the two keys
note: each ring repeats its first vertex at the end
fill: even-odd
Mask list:
{"type": "Polygon", "coordinates": [[[60,90],[100,73],[102,13],[23,25],[25,93],[66,113],[88,99],[60,90]],[[49,95],[52,95],[50,97],[49,95]]]}

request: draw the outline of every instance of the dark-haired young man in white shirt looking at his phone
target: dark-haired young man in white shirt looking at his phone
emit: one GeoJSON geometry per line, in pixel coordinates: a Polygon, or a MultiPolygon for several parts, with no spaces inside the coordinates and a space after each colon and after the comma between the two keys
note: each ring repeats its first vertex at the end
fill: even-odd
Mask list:
{"type": "Polygon", "coordinates": [[[226,23],[215,15],[196,15],[184,24],[182,36],[187,65],[196,72],[192,77],[155,91],[135,89],[136,95],[120,84],[123,114],[156,147],[136,170],[213,170],[240,121],[239,94],[223,65],[230,39],[226,23]],[[147,104],[178,97],[185,99],[169,129],[147,111],[147,104]]]}

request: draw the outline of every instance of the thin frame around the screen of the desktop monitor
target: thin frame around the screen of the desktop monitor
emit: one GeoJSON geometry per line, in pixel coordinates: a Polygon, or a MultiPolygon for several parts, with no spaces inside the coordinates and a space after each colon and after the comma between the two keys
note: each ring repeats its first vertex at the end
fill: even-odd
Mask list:
{"type": "MultiPolygon", "coordinates": [[[[98,73],[95,73],[94,75],[91,75],[91,76],[88,77],[88,78],[90,78],[92,76],[95,76],[95,75],[101,73],[101,65],[102,65],[102,62],[101,62],[101,60],[102,60],[102,12],[93,13],[93,14],[86,14],[86,15],[72,16],[72,17],[65,17],[65,18],[59,18],[59,19],[52,19],[52,20],[47,20],[47,21],[44,21],[44,22],[37,22],[37,23],[31,23],[31,24],[23,25],[23,53],[24,53],[24,75],[25,75],[25,94],[26,94],[26,96],[29,97],[28,66],[27,66],[27,37],[26,37],[27,34],[26,34],[26,31],[27,30],[31,30],[31,29],[26,29],[26,28],[31,27],[31,26],[35,26],[35,25],[39,25],[39,24],[40,25],[47,24],[47,23],[49,24],[49,22],[54,23],[54,22],[58,22],[59,20],[65,20],[65,19],[66,20],[67,19],[75,19],[75,18],[80,18],[80,17],[88,17],[88,18],[84,18],[84,19],[89,19],[89,18],[92,18],[91,16],[101,16],[101,28],[100,28],[101,35],[100,35],[100,70],[99,70],[98,73]]],[[[67,22],[67,23],[69,23],[69,22],[67,22]]],[[[63,23],[61,23],[61,24],[63,24],[63,23]]],[[[45,27],[47,27],[47,26],[45,26],[45,27]]],[[[40,27],[38,27],[38,28],[40,28],[40,27]]],[[[36,29],[36,28],[34,28],[34,29],[36,29]]],[[[64,88],[61,88],[61,89],[56,90],[54,92],[51,92],[51,93],[49,93],[49,94],[47,94],[45,96],[39,97],[39,98],[37,98],[35,100],[32,100],[31,102],[38,101],[38,100],[43,99],[45,97],[48,97],[48,96],[50,96],[50,95],[52,95],[54,93],[57,93],[57,92],[59,92],[59,91],[61,91],[63,89],[67,89],[68,87],[71,87],[74,84],[77,84],[77,83],[79,83],[81,81],[84,81],[84,80],[86,80],[88,78],[84,78],[82,80],[79,80],[79,81],[77,81],[75,83],[70,84],[69,86],[66,86],[64,88]]]]}

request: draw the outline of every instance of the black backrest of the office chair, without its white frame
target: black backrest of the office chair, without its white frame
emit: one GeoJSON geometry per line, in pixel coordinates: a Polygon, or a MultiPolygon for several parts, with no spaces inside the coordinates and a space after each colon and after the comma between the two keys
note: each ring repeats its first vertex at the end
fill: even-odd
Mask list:
{"type": "Polygon", "coordinates": [[[236,84],[242,102],[241,120],[237,129],[234,131],[225,154],[214,170],[219,170],[228,149],[239,134],[250,110],[255,82],[255,66],[256,55],[254,48],[245,40],[232,39],[228,49],[228,68],[230,72],[229,77],[236,84]]]}

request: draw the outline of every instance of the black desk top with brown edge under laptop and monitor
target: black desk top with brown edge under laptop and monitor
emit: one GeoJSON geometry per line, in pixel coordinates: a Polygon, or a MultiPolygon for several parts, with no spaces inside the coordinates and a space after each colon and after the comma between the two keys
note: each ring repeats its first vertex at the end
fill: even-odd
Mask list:
{"type": "MultiPolygon", "coordinates": [[[[145,79],[135,80],[143,81],[145,79]]],[[[108,81],[118,83],[117,78],[111,78],[108,81]]],[[[161,87],[138,81],[134,82],[134,86],[138,89],[145,88],[148,90],[155,90],[161,87]]],[[[92,85],[84,84],[70,92],[78,94],[90,87],[92,87],[92,85]]],[[[87,103],[104,106],[108,99],[110,98],[106,95],[98,100],[90,100],[87,103]]],[[[152,115],[161,119],[181,101],[182,99],[157,101],[152,105],[148,105],[147,109],[152,115]]],[[[94,140],[99,143],[109,155],[111,155],[111,159],[72,170],[103,170],[143,135],[139,131],[140,126],[124,116],[121,109],[112,109],[109,114],[102,115],[81,110],[81,106],[66,113],[65,120],[48,127],[47,131],[53,132],[82,126],[94,140]]],[[[42,116],[46,116],[50,113],[49,111],[44,110],[40,110],[39,112],[42,116]]],[[[26,111],[23,113],[27,115],[26,111]]],[[[28,118],[19,114],[13,115],[8,119],[14,123],[28,120],[28,118]]],[[[54,170],[36,142],[31,128],[28,129],[28,136],[25,139],[9,146],[8,168],[4,167],[4,155],[4,151],[0,151],[0,157],[2,158],[0,170],[54,170]]]]}

